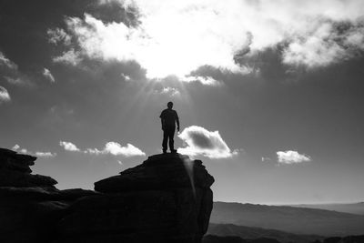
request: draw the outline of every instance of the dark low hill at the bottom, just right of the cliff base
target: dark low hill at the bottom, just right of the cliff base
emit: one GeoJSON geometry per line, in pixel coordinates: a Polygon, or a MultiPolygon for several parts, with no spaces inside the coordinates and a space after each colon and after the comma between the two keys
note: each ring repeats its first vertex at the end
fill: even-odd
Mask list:
{"type": "Polygon", "coordinates": [[[281,243],[311,243],[315,240],[324,239],[324,237],[314,235],[297,235],[276,229],[253,228],[232,224],[210,224],[207,229],[207,234],[219,237],[238,236],[244,239],[274,238],[281,243]]]}

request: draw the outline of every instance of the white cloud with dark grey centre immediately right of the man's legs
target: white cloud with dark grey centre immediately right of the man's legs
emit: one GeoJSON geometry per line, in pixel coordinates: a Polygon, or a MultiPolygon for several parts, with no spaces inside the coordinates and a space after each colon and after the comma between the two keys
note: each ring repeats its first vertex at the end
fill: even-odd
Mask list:
{"type": "Polygon", "coordinates": [[[210,132],[204,127],[186,127],[179,135],[187,147],[179,147],[178,153],[209,158],[225,158],[238,154],[238,150],[231,151],[218,131],[210,132]]]}

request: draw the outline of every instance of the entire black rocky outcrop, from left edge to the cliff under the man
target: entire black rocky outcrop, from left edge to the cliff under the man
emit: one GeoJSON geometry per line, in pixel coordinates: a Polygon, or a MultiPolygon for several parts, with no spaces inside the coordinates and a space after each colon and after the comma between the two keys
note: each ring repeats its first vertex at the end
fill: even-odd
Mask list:
{"type": "Polygon", "coordinates": [[[178,154],[95,183],[96,191],[59,190],[33,175],[36,157],[0,148],[0,242],[201,242],[214,178],[178,154]]]}

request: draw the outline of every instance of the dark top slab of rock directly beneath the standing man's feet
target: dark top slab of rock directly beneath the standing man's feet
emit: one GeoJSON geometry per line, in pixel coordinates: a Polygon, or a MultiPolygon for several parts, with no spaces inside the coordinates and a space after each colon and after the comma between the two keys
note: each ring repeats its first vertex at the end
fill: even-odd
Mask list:
{"type": "Polygon", "coordinates": [[[105,193],[167,188],[208,188],[214,183],[201,160],[179,154],[148,157],[143,164],[126,169],[120,175],[95,183],[95,190],[105,193]]]}

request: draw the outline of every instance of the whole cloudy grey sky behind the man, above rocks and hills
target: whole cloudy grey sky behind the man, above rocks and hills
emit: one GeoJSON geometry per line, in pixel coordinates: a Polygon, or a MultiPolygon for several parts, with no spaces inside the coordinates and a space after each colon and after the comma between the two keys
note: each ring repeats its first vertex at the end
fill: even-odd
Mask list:
{"type": "Polygon", "coordinates": [[[178,152],[214,200],[364,200],[361,0],[0,1],[0,147],[58,188],[178,152]]]}

